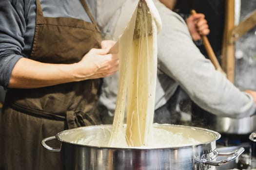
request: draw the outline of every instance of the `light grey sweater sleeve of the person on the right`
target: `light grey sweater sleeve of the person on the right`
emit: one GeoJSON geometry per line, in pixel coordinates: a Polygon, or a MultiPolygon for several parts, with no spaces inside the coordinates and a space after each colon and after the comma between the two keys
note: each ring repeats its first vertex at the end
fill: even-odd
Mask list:
{"type": "Polygon", "coordinates": [[[162,4],[158,35],[158,59],[162,71],[172,77],[203,109],[225,117],[241,118],[255,113],[253,97],[241,92],[216,71],[195,46],[186,23],[162,4]]]}

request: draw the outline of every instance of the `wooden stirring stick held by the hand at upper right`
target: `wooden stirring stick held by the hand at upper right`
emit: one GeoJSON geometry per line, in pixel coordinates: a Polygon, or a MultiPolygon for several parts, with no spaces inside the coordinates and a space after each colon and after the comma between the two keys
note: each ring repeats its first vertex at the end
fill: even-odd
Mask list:
{"type": "MultiPolygon", "coordinates": [[[[197,12],[195,10],[191,10],[191,14],[192,15],[197,14],[197,12]]],[[[220,67],[220,65],[218,63],[217,57],[216,57],[216,55],[215,55],[215,53],[212,49],[212,46],[210,45],[210,42],[209,42],[207,36],[206,35],[201,35],[201,38],[203,40],[204,48],[205,48],[211,62],[213,63],[215,69],[226,75],[226,73],[222,70],[222,68],[220,67]]]]}

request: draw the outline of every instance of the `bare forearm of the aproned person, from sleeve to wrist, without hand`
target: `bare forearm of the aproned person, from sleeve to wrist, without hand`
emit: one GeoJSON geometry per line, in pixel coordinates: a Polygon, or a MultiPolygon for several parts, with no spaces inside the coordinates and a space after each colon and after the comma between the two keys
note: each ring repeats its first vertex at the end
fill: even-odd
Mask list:
{"type": "Polygon", "coordinates": [[[85,80],[75,64],[47,64],[21,58],[13,68],[9,88],[38,88],[85,80]]]}

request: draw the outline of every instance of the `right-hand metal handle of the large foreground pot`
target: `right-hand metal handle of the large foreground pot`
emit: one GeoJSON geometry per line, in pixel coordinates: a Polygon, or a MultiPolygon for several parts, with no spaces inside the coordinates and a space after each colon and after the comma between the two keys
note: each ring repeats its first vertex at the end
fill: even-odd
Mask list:
{"type": "Polygon", "coordinates": [[[205,158],[204,156],[202,156],[201,158],[201,163],[203,163],[204,166],[206,165],[212,165],[212,166],[220,166],[220,165],[224,165],[230,161],[235,160],[238,156],[240,156],[240,154],[242,154],[244,152],[244,148],[241,147],[235,151],[232,152],[227,152],[227,153],[223,153],[223,152],[216,152],[216,157],[217,156],[229,156],[226,159],[222,159],[219,161],[214,161],[214,160],[209,160],[208,158],[205,158]]]}

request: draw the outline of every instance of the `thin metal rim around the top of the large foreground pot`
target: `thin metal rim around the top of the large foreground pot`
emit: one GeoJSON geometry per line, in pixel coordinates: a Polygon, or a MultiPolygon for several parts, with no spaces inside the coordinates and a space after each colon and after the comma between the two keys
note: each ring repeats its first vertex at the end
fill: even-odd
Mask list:
{"type": "Polygon", "coordinates": [[[95,145],[85,145],[85,144],[79,144],[79,143],[72,143],[70,141],[65,141],[63,139],[61,139],[61,134],[66,133],[66,132],[72,132],[72,131],[76,131],[79,129],[88,129],[88,128],[94,128],[94,127],[112,127],[112,124],[101,124],[101,125],[92,125],[92,126],[83,126],[83,127],[78,127],[78,128],[74,128],[74,129],[68,129],[68,130],[64,130],[59,132],[58,134],[56,134],[56,138],[60,141],[60,142],[64,142],[64,143],[68,143],[68,144],[72,144],[72,145],[77,145],[77,146],[82,146],[82,147],[88,147],[88,148],[98,148],[98,149],[125,149],[125,150],[158,150],[158,149],[180,149],[180,148],[188,148],[188,147],[194,147],[194,146],[199,146],[199,145],[206,145],[212,142],[215,142],[216,140],[218,140],[221,135],[213,130],[210,129],[205,129],[205,128],[201,128],[201,127],[195,127],[195,126],[186,126],[186,125],[176,125],[176,124],[160,124],[160,123],[154,123],[153,126],[155,127],[162,127],[162,126],[175,126],[175,127],[181,127],[181,128],[192,128],[192,129],[196,129],[196,130],[202,130],[211,134],[215,135],[215,139],[206,141],[206,142],[200,142],[198,144],[193,144],[193,145],[189,145],[189,144],[184,144],[184,145],[180,145],[180,146],[174,146],[174,147],[107,147],[107,146],[95,146],[95,145]]]}

